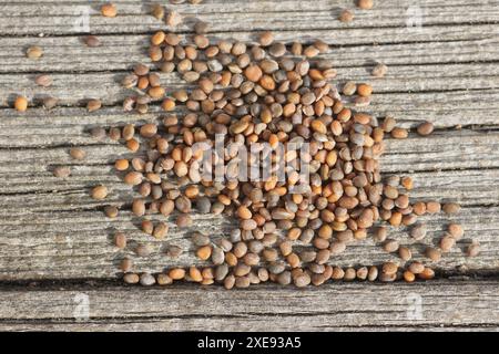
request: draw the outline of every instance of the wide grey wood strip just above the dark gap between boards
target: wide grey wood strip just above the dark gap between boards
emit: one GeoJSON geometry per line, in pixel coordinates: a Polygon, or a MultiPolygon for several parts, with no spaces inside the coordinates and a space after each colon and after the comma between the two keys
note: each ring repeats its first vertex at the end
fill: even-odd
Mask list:
{"type": "MultiPolygon", "coordinates": [[[[498,190],[495,192],[497,195],[498,190]]],[[[156,241],[140,231],[140,219],[133,217],[130,211],[122,211],[116,219],[110,220],[102,211],[91,207],[71,210],[77,199],[85,198],[81,192],[60,194],[58,200],[52,204],[55,205],[54,208],[63,207],[63,210],[48,210],[50,206],[45,206],[44,209],[32,207],[30,201],[32,198],[26,198],[24,207],[16,211],[3,210],[0,222],[2,246],[0,280],[114,279],[119,275],[118,264],[125,256],[134,260],[134,270],[139,272],[157,273],[176,266],[203,264],[194,256],[192,232],[201,230],[216,241],[221,237],[226,237],[233,228],[233,220],[223,216],[194,212],[194,227],[185,229],[174,226],[174,216],[169,219],[153,216],[152,220],[162,219],[170,225],[169,237],[163,241],[156,241]],[[32,210],[37,208],[41,210],[32,210]],[[116,230],[124,231],[129,237],[130,246],[125,251],[113,247],[112,238],[116,230]],[[153,253],[147,258],[136,257],[133,250],[138,243],[150,244],[153,253]],[[173,259],[165,254],[171,246],[179,246],[184,252],[173,259]]],[[[2,197],[2,199],[14,198],[2,197]]],[[[44,200],[48,199],[45,197],[44,200]]],[[[437,244],[446,226],[450,221],[457,221],[466,230],[465,238],[451,252],[432,266],[446,273],[456,273],[461,266],[465,267],[461,270],[469,273],[495,271],[499,268],[498,215],[497,206],[465,207],[457,217],[449,218],[445,215],[422,217],[420,220],[428,223],[429,230],[428,237],[422,242],[410,239],[406,228],[390,229],[389,237],[398,239],[401,244],[410,246],[414,259],[426,262],[425,247],[437,244]],[[472,239],[480,242],[482,251],[480,257],[467,258],[465,249],[472,239]]],[[[296,242],[295,249],[299,251],[304,247],[306,246],[296,242]]],[[[385,253],[379,244],[368,239],[350,244],[342,257],[333,257],[329,263],[342,267],[371,266],[388,260],[400,262],[396,254],[385,253]]]]}

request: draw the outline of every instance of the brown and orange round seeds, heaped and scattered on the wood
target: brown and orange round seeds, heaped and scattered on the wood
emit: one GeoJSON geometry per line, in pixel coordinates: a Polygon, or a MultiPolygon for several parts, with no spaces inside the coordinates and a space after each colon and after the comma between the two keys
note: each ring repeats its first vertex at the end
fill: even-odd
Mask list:
{"type": "MultiPolygon", "coordinates": [[[[370,9],[373,2],[359,1],[358,6],[370,9]]],[[[101,12],[115,17],[118,9],[105,4],[101,12]]],[[[159,19],[166,18],[171,27],[182,21],[180,14],[166,14],[161,6],[153,7],[152,12],[159,19]]],[[[343,12],[342,19],[352,21],[352,13],[343,12]]],[[[200,21],[194,30],[192,38],[154,33],[149,51],[154,65],[136,64],[122,81],[134,92],[123,102],[123,110],[145,114],[150,105],[161,105],[161,124],[128,124],[108,132],[96,127],[91,134],[95,138],[108,135],[136,154],[116,159],[114,167],[133,189],[132,212],[151,238],[167,239],[171,217],[179,228],[192,226],[192,212],[225,214],[236,219],[235,227],[216,241],[202,232],[192,235],[196,257],[206,266],[138,273],[133,260],[124,258],[124,281],[164,285],[187,280],[222,283],[231,289],[266,281],[306,287],[328,280],[431,279],[432,269],[413,260],[409,247],[389,238],[389,227],[406,227],[411,238],[422,241],[427,228],[418,217],[440,211],[454,215],[459,212],[459,205],[411,202],[410,177],[381,178],[379,158],[385,150],[385,135],[400,139],[409,132],[397,127],[393,117],[378,122],[369,114],[353,111],[342,100],[333,84],[336,70],[330,61],[320,59],[328,45],[323,41],[276,42],[271,32],[262,33],[252,44],[213,42],[205,35],[207,23],[200,21]],[[190,88],[167,92],[161,72],[179,74],[190,88]],[[206,165],[204,153],[216,146],[220,136],[222,150],[210,150],[206,165]],[[305,152],[292,148],[305,145],[305,152]],[[255,148],[258,158],[271,164],[261,166],[253,155],[243,160],[238,155],[242,147],[255,148]],[[206,178],[206,173],[217,170],[221,164],[223,178],[206,178]],[[304,164],[308,169],[306,179],[302,178],[304,164]],[[264,170],[269,173],[264,179],[241,178],[243,171],[259,176],[264,170]],[[284,178],[279,178],[283,171],[284,178]],[[153,215],[164,218],[153,221],[153,215]],[[379,267],[333,266],[349,244],[366,238],[374,238],[399,261],[379,267]]],[[[92,35],[84,43],[100,45],[92,35]]],[[[42,50],[33,48],[27,55],[38,59],[42,50]]],[[[386,72],[386,65],[378,64],[373,75],[380,77],[386,72]]],[[[51,79],[39,76],[35,83],[48,86],[51,79]]],[[[347,82],[342,93],[354,106],[365,106],[370,103],[373,88],[366,83],[347,82]]],[[[22,96],[14,104],[19,111],[28,107],[22,96]]],[[[101,106],[99,100],[90,100],[86,105],[89,112],[101,106]]],[[[421,136],[432,131],[429,122],[417,128],[421,136]]],[[[79,148],[71,149],[70,155],[85,158],[85,152],[79,148]]],[[[67,178],[71,170],[61,166],[53,174],[67,178]]],[[[96,200],[105,200],[108,195],[102,185],[91,190],[96,200]]],[[[104,212],[114,218],[119,209],[108,206],[104,212]]],[[[427,247],[426,257],[434,262],[440,260],[462,236],[462,227],[450,223],[438,247],[427,247]]],[[[131,247],[121,231],[114,235],[114,243],[121,250],[131,247]]],[[[151,249],[140,243],[134,252],[149,257],[151,249]]],[[[171,247],[165,256],[176,257],[180,252],[182,249],[171,247]]],[[[467,254],[478,253],[479,244],[469,244],[467,254]]]]}

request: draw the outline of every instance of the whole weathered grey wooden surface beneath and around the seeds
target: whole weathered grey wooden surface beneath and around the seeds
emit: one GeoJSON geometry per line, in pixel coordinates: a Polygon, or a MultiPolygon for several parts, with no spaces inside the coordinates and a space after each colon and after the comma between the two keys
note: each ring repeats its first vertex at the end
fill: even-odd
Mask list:
{"type": "MultiPolygon", "coordinates": [[[[90,31],[102,41],[102,46],[95,49],[84,46],[81,38],[85,33],[74,28],[88,1],[23,0],[0,4],[0,281],[68,280],[73,284],[85,279],[115,279],[119,260],[132,253],[119,252],[111,244],[114,230],[125,230],[133,241],[154,246],[156,251],[151,258],[135,259],[138,271],[156,272],[173,264],[198,262],[189,241],[191,230],[177,230],[172,225],[164,242],[141,235],[128,210],[132,192],[112,168],[118,156],[126,156],[126,149],[108,139],[95,140],[86,133],[96,125],[140,124],[161,116],[157,106],[146,115],[124,114],[120,102],[129,92],[120,87],[119,81],[134,63],[147,62],[147,35],[164,25],[147,14],[144,1],[114,2],[120,9],[115,19],[102,18],[94,6],[90,10],[90,31]],[[44,49],[39,61],[24,58],[26,49],[33,44],[44,49]],[[37,87],[33,80],[39,73],[51,73],[53,86],[37,87]],[[9,108],[14,94],[24,94],[34,102],[53,95],[63,107],[52,112],[32,107],[19,114],[9,108]],[[88,114],[82,106],[89,98],[101,98],[105,107],[88,114]],[[71,160],[71,146],[83,147],[88,158],[71,160]],[[59,165],[71,165],[72,176],[64,180],[53,177],[51,169],[59,165]],[[119,218],[105,219],[105,204],[88,196],[90,187],[98,183],[112,190],[106,204],[124,206],[119,218]],[[173,260],[163,252],[170,244],[186,251],[173,260]]],[[[435,264],[440,277],[495,275],[499,273],[499,1],[419,1],[420,29],[406,27],[414,1],[375,2],[371,11],[355,9],[355,20],[349,24],[336,20],[340,9],[354,8],[349,0],[237,0],[230,7],[226,1],[205,0],[201,6],[170,8],[185,14],[186,24],[180,31],[186,35],[192,32],[194,18],[198,18],[211,23],[213,39],[251,42],[264,29],[273,30],[278,40],[286,42],[320,38],[332,44],[330,52],[323,56],[334,61],[339,86],[347,80],[374,85],[371,105],[359,110],[378,117],[393,114],[401,126],[410,128],[421,121],[432,122],[437,131],[430,137],[413,133],[406,140],[388,139],[383,170],[386,175],[414,176],[415,199],[462,204],[457,217],[425,217],[429,243],[449,221],[458,220],[466,229],[459,246],[435,264]],[[370,76],[376,62],[389,66],[384,79],[370,76]],[[482,246],[482,253],[473,259],[464,257],[464,248],[471,239],[482,246]]],[[[169,91],[185,86],[174,74],[162,74],[162,80],[169,91]]],[[[223,217],[195,216],[195,220],[196,229],[214,238],[231,228],[231,220],[223,217]]],[[[393,230],[390,236],[400,238],[401,243],[411,242],[405,229],[393,230]]],[[[416,259],[422,259],[422,248],[415,246],[416,259]]],[[[366,240],[349,247],[332,263],[357,266],[389,259],[396,257],[366,240]]],[[[499,322],[496,282],[369,285],[376,287],[375,292],[365,287],[342,283],[306,291],[261,287],[235,293],[182,287],[167,291],[84,287],[82,291],[92,299],[91,316],[95,319],[83,324],[72,322],[72,296],[79,290],[24,292],[0,288],[0,327],[216,330],[230,323],[227,330],[272,330],[275,315],[291,316],[288,323],[301,323],[303,330],[374,329],[380,324],[393,329],[431,329],[440,324],[449,329],[496,329],[499,322]],[[428,301],[429,310],[421,323],[405,317],[401,302],[407,291],[424,293],[428,301]],[[196,299],[194,308],[187,303],[192,298],[196,299]],[[40,299],[52,300],[35,304],[40,299]],[[262,299],[268,299],[268,304],[256,312],[249,310],[262,299]],[[475,303],[477,299],[480,302],[475,303]],[[340,304],[347,305],[347,315],[340,304]],[[203,306],[208,309],[210,322],[197,312],[203,306]],[[305,311],[304,306],[309,309],[305,311]],[[217,311],[223,316],[216,316],[217,311]],[[496,311],[496,316],[490,311],[496,311]]],[[[291,329],[282,322],[277,329],[291,329]]]]}

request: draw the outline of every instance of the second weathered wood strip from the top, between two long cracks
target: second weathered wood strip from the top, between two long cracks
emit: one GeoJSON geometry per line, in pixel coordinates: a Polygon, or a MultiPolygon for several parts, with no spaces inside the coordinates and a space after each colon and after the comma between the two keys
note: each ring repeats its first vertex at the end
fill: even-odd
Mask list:
{"type": "MultiPolygon", "coordinates": [[[[333,59],[337,67],[371,66],[375,62],[387,65],[438,64],[490,62],[499,59],[499,34],[497,27],[461,25],[459,28],[437,28],[428,32],[434,41],[406,42],[400,39],[396,44],[373,43],[369,35],[377,38],[393,35],[394,30],[366,29],[348,30],[343,33],[348,39],[338,38],[337,31],[284,31],[275,32],[276,40],[292,42],[322,39],[332,44],[330,53],[324,58],[333,59]],[[376,33],[383,31],[383,33],[376,33]],[[374,32],[374,33],[373,33],[374,32]],[[452,33],[449,37],[448,33],[452,33]],[[441,33],[441,34],[440,34],[441,33]],[[442,37],[447,34],[447,37],[442,37]],[[367,40],[366,40],[367,39],[367,40]],[[450,42],[446,42],[450,41],[450,42]],[[364,44],[363,44],[364,43],[364,44]],[[367,43],[367,44],[366,44],[367,43]],[[344,46],[338,46],[348,44],[344,46]]],[[[82,72],[128,70],[136,62],[149,62],[146,35],[101,35],[102,45],[86,48],[82,37],[48,38],[0,38],[0,73],[20,72],[82,72]],[[42,59],[32,61],[26,58],[26,49],[40,45],[44,50],[42,59]]],[[[226,33],[210,35],[216,42],[226,39],[226,33]]],[[[252,41],[251,32],[231,33],[234,40],[252,41]]],[[[415,67],[416,69],[416,67],[415,67]]],[[[451,74],[451,71],[450,73],[451,74]]],[[[388,74],[390,76],[390,73],[388,74]]]]}

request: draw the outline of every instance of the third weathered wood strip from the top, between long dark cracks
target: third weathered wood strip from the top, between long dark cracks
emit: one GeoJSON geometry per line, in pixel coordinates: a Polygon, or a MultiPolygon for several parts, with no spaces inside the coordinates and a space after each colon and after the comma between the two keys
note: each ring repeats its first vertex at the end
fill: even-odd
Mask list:
{"type": "MultiPolygon", "coordinates": [[[[493,63],[397,65],[390,67],[389,75],[383,79],[370,76],[368,69],[366,66],[339,69],[333,83],[340,88],[346,81],[367,81],[371,82],[378,94],[499,88],[499,65],[493,63]]],[[[38,74],[0,75],[0,97],[8,98],[2,100],[0,106],[11,104],[9,101],[14,93],[34,101],[53,96],[63,105],[84,104],[90,97],[98,97],[105,105],[116,104],[124,97],[135,94],[121,86],[121,80],[126,74],[128,72],[51,74],[53,84],[50,87],[34,84],[38,74]]],[[[177,74],[161,73],[160,76],[162,85],[167,87],[167,93],[186,87],[177,74]]]]}

